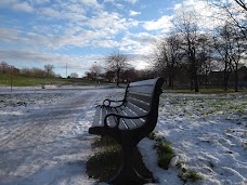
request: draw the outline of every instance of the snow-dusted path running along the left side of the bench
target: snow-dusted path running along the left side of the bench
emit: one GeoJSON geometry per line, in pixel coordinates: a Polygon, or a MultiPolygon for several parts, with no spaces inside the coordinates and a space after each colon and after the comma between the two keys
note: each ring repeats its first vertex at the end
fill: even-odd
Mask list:
{"type": "Polygon", "coordinates": [[[98,93],[76,94],[1,122],[0,184],[73,184],[84,179],[82,166],[91,146],[82,120],[98,93]]]}

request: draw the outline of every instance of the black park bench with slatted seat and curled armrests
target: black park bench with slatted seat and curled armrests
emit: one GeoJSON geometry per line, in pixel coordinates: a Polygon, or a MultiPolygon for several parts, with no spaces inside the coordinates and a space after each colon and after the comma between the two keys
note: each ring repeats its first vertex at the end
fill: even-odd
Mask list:
{"type": "Polygon", "coordinates": [[[156,127],[162,83],[162,78],[131,82],[122,101],[104,100],[96,106],[89,133],[108,135],[122,149],[121,167],[110,184],[145,182],[133,167],[132,154],[138,143],[156,127]]]}

